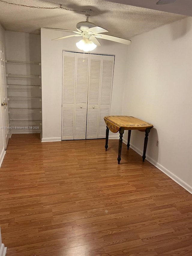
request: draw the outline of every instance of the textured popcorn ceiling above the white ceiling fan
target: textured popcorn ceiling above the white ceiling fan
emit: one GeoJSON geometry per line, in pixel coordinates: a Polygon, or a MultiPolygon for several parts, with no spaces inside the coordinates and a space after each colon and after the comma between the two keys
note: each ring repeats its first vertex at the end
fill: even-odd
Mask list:
{"type": "MultiPolygon", "coordinates": [[[[108,35],[132,38],[152,29],[180,20],[185,16],[101,0],[7,0],[18,4],[66,8],[84,11],[92,9],[89,21],[109,30],[108,35]]],[[[144,0],[143,0],[144,1],[144,0]]],[[[156,0],[154,0],[156,1],[156,0]]],[[[76,29],[85,20],[84,13],[19,7],[0,2],[0,23],[6,30],[40,33],[41,27],[76,29]]]]}

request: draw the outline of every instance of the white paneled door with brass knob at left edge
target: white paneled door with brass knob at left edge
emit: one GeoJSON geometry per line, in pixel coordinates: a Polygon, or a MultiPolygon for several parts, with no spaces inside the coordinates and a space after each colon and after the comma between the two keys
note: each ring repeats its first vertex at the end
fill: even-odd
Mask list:
{"type": "Polygon", "coordinates": [[[1,110],[3,117],[3,135],[4,135],[4,148],[7,148],[9,141],[9,118],[8,118],[8,106],[7,106],[7,85],[6,85],[6,72],[5,72],[5,58],[4,58],[4,46],[0,43],[0,90],[1,90],[1,110]],[[7,127],[7,128],[6,128],[7,127]]]}

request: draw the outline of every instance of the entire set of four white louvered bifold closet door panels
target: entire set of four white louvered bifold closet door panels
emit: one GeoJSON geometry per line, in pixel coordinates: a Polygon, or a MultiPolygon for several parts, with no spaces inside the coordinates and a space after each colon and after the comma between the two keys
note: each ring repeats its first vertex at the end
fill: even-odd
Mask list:
{"type": "Polygon", "coordinates": [[[105,138],[114,56],[63,52],[62,140],[105,138]]]}

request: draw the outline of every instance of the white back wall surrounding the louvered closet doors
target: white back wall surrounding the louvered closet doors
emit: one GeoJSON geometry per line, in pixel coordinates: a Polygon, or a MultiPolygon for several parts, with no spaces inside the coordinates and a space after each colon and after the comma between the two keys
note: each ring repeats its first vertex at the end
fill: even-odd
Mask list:
{"type": "MultiPolygon", "coordinates": [[[[79,37],[51,41],[65,35],[69,33],[41,29],[42,141],[61,140],[62,50],[81,52],[75,45],[80,40],[79,37]]],[[[115,55],[111,115],[119,115],[122,112],[128,47],[104,40],[101,40],[101,44],[101,47],[97,47],[92,52],[115,55]]]]}

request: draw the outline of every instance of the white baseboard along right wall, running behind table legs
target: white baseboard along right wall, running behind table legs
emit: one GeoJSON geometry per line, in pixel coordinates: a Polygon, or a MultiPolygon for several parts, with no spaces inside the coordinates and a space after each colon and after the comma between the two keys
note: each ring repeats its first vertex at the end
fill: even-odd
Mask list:
{"type": "MultiPolygon", "coordinates": [[[[123,140],[123,143],[127,144],[127,140],[123,140]]],[[[135,147],[134,145],[130,144],[130,148],[133,149],[135,152],[137,152],[139,155],[143,155],[143,151],[135,147]]],[[[182,186],[185,190],[187,190],[190,194],[192,194],[192,187],[188,185],[186,182],[184,182],[182,179],[177,177],[175,174],[167,170],[164,166],[159,164],[157,161],[154,161],[149,155],[146,155],[146,160],[149,161],[151,164],[153,164],[155,167],[157,167],[160,171],[165,173],[167,176],[169,176],[171,179],[173,179],[177,184],[182,186]]]]}

